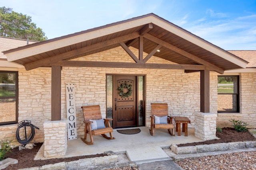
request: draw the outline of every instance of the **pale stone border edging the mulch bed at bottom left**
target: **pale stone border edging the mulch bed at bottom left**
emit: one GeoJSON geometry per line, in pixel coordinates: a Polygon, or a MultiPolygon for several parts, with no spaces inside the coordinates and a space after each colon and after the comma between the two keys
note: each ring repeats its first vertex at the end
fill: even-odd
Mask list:
{"type": "Polygon", "coordinates": [[[71,162],[60,162],[56,164],[48,164],[44,166],[24,168],[19,170],[55,170],[55,169],[84,169],[93,168],[94,166],[102,166],[106,164],[114,164],[118,162],[117,154],[95,157],[95,158],[84,158],[79,160],[74,160],[71,162]]]}

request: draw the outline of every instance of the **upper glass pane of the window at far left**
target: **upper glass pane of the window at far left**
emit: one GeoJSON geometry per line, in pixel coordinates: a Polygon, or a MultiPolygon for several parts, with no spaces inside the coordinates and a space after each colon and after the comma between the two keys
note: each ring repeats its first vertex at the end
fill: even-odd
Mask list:
{"type": "Polygon", "coordinates": [[[0,73],[0,97],[16,96],[16,74],[0,73]]]}

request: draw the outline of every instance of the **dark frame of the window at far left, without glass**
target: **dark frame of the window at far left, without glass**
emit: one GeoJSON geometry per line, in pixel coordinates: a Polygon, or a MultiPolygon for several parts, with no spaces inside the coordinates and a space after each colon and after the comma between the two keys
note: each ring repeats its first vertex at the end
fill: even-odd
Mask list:
{"type": "Polygon", "coordinates": [[[19,91],[18,91],[18,71],[5,71],[5,70],[0,70],[0,73],[14,73],[15,74],[15,81],[16,81],[16,84],[15,84],[15,90],[16,90],[16,93],[15,93],[15,96],[6,96],[6,97],[0,97],[0,99],[6,99],[6,98],[13,98],[15,99],[16,103],[15,103],[15,121],[7,121],[7,122],[0,122],[0,126],[1,125],[11,125],[11,124],[16,124],[18,123],[18,94],[19,94],[19,91]]]}

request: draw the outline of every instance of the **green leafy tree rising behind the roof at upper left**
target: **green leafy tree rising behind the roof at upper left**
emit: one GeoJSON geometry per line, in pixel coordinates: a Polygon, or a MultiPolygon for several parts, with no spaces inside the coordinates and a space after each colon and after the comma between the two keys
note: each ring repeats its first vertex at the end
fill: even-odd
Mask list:
{"type": "Polygon", "coordinates": [[[31,17],[0,7],[0,36],[33,41],[47,40],[41,28],[37,28],[31,17]]]}

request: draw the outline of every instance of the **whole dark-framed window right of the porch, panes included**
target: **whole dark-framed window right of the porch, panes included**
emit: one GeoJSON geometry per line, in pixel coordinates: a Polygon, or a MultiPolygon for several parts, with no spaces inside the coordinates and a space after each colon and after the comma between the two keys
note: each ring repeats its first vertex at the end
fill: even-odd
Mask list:
{"type": "Polygon", "coordinates": [[[218,112],[239,112],[239,76],[218,76],[218,112]]]}

